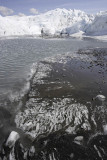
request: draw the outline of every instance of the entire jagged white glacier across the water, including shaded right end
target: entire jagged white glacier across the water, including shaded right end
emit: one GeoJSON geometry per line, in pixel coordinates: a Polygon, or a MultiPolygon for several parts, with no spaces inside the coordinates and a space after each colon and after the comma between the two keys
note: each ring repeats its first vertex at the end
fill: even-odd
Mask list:
{"type": "Polygon", "coordinates": [[[74,34],[86,32],[87,35],[107,34],[107,12],[96,16],[80,10],[55,9],[36,16],[0,16],[0,36],[74,34]]]}

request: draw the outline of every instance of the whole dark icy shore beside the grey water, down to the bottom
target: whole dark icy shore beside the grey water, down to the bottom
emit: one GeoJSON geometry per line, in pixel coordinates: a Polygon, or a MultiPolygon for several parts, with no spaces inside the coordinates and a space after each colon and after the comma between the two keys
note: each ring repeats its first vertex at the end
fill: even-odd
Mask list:
{"type": "Polygon", "coordinates": [[[15,122],[2,145],[9,160],[107,159],[107,49],[79,50],[38,63],[15,122]],[[12,138],[13,137],[13,138],[12,138]]]}

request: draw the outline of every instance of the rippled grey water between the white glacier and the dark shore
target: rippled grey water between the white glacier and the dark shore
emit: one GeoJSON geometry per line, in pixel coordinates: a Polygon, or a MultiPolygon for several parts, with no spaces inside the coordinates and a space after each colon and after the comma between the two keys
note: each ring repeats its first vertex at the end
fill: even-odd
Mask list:
{"type": "Polygon", "coordinates": [[[105,42],[93,40],[0,40],[0,95],[18,91],[30,74],[33,63],[46,57],[72,53],[83,48],[106,47],[105,42]]]}

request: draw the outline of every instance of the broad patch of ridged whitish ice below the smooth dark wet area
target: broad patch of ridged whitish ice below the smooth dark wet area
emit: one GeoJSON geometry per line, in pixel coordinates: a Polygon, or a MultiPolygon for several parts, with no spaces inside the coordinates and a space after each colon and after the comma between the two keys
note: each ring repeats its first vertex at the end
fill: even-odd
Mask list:
{"type": "Polygon", "coordinates": [[[33,99],[27,104],[27,109],[16,116],[16,124],[27,134],[36,138],[40,134],[49,134],[69,126],[90,130],[88,110],[81,104],[72,104],[70,98],[54,98],[52,100],[33,99]],[[40,101],[40,102],[39,102],[40,101]]]}

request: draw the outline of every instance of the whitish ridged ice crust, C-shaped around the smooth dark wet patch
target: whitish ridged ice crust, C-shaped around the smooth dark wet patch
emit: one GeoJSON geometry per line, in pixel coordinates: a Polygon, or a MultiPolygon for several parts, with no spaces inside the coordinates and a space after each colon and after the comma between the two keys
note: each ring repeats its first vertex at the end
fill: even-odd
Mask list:
{"type": "MultiPolygon", "coordinates": [[[[21,128],[32,138],[36,138],[42,134],[48,135],[49,133],[59,130],[74,133],[80,128],[83,130],[91,129],[88,117],[89,113],[85,105],[74,102],[73,98],[56,98],[56,95],[49,98],[46,97],[45,93],[45,97],[40,95],[44,92],[43,85],[57,84],[55,87],[47,86],[46,92],[53,92],[62,88],[62,82],[48,81],[47,79],[50,77],[51,71],[53,70],[52,64],[62,63],[64,65],[67,63],[68,59],[73,58],[78,59],[78,56],[72,54],[68,57],[56,58],[56,61],[55,59],[47,59],[38,64],[36,73],[31,82],[26,108],[23,112],[19,112],[15,119],[17,127],[21,128]],[[38,89],[38,86],[42,87],[43,91],[41,88],[38,89]]],[[[87,56],[81,56],[81,59],[83,61],[89,60],[87,56]]],[[[63,83],[67,83],[68,87],[72,88],[72,86],[69,86],[69,82],[63,83]]]]}

